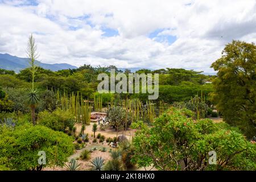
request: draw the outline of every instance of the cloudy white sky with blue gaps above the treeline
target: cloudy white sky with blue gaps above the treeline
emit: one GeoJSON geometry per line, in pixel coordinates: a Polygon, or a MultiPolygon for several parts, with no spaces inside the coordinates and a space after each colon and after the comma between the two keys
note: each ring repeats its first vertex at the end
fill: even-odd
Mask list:
{"type": "Polygon", "coordinates": [[[211,73],[232,40],[256,43],[255,0],[0,0],[0,53],[77,67],[184,68],[211,73]]]}

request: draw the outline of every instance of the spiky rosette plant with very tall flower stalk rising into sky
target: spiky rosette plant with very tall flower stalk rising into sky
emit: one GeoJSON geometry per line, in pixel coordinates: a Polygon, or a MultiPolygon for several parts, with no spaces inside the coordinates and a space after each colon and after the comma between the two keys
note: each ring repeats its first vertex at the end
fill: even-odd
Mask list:
{"type": "Polygon", "coordinates": [[[35,106],[39,102],[39,93],[38,90],[34,88],[34,78],[35,78],[35,72],[36,72],[36,65],[35,60],[38,58],[38,53],[36,52],[36,44],[35,44],[35,38],[31,34],[31,36],[28,38],[27,43],[27,57],[30,59],[30,71],[32,75],[32,88],[28,90],[28,101],[30,102],[30,108],[31,108],[31,120],[32,123],[35,125],[35,106]]]}

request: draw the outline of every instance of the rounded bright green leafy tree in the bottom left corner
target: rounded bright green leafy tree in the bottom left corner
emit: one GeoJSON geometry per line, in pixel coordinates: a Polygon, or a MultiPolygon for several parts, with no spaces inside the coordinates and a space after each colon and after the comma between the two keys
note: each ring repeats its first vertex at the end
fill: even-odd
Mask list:
{"type": "Polygon", "coordinates": [[[73,139],[45,126],[31,124],[5,128],[0,134],[0,168],[41,170],[64,166],[73,154],[73,139]],[[39,164],[39,151],[46,152],[46,164],[39,164]]]}

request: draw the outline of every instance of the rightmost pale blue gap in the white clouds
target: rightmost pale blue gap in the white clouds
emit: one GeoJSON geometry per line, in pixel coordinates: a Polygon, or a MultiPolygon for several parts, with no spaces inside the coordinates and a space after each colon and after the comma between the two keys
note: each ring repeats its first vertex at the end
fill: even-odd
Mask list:
{"type": "Polygon", "coordinates": [[[154,39],[156,42],[167,42],[169,45],[171,45],[172,43],[174,43],[177,38],[176,36],[172,36],[172,35],[158,35],[160,32],[164,31],[164,28],[159,28],[157,30],[155,30],[154,32],[151,32],[148,37],[150,39],[154,39]]]}

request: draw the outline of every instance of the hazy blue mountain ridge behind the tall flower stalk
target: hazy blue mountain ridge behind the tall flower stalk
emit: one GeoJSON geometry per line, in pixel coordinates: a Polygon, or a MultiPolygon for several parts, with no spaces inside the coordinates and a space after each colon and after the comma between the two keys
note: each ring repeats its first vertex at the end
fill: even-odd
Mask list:
{"type": "MultiPolygon", "coordinates": [[[[36,65],[42,67],[44,69],[50,69],[51,71],[58,71],[61,69],[76,69],[77,67],[60,63],[60,64],[46,64],[41,63],[40,61],[36,61],[36,65]]],[[[9,55],[8,53],[2,54],[0,53],[0,68],[13,70],[18,73],[20,70],[29,67],[29,60],[27,58],[17,57],[9,55]]]]}

